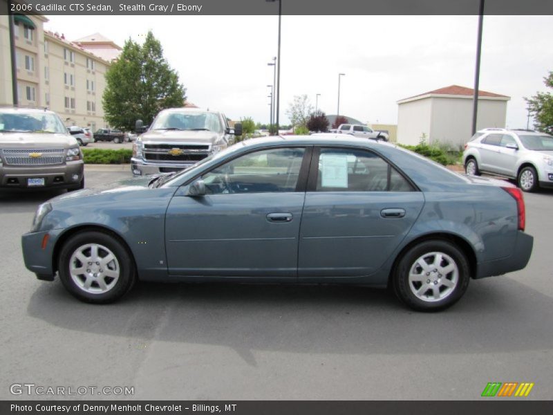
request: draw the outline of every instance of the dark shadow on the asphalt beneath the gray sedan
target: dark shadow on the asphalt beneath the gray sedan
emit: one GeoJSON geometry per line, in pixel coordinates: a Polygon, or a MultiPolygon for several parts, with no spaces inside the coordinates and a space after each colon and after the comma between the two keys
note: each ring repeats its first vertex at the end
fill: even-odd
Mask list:
{"type": "Polygon", "coordinates": [[[472,281],[441,313],[417,313],[386,290],[355,286],[138,284],[121,302],[73,299],[57,281],[28,314],[101,335],[295,353],[487,353],[550,349],[553,301],[507,277],[472,281]]]}

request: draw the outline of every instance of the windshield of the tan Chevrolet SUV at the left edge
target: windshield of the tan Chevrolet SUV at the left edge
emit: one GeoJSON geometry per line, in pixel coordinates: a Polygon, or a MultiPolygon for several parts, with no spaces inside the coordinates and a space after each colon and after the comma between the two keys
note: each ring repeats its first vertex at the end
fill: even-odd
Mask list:
{"type": "Polygon", "coordinates": [[[62,120],[53,113],[0,113],[0,132],[40,132],[66,134],[62,120]]]}

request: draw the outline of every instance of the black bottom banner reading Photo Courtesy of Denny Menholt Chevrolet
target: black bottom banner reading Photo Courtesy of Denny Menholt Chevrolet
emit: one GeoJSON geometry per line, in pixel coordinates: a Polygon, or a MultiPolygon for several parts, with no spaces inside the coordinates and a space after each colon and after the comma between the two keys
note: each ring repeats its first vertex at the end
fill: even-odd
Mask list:
{"type": "Polygon", "coordinates": [[[1,401],[2,415],[541,415],[552,414],[552,401],[489,398],[478,401],[384,400],[156,400],[156,401],[1,401]]]}

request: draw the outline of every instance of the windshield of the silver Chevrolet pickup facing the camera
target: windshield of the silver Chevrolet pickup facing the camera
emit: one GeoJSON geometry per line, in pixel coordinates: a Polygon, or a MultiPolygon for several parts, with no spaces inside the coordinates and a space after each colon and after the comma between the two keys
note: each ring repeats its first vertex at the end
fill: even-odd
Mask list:
{"type": "Polygon", "coordinates": [[[223,126],[216,113],[207,112],[162,112],[153,121],[150,129],[207,130],[223,132],[223,126]]]}

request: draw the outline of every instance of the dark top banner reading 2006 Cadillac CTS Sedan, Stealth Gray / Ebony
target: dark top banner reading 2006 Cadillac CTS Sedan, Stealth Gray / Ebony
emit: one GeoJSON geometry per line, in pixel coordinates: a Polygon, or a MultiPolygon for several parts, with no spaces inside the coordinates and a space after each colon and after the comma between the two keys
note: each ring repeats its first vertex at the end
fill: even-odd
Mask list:
{"type": "MultiPolygon", "coordinates": [[[[0,14],[478,15],[480,0],[0,0],[0,14]]],[[[485,15],[553,15],[550,0],[485,0],[485,15]]]]}

